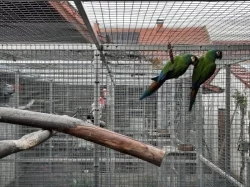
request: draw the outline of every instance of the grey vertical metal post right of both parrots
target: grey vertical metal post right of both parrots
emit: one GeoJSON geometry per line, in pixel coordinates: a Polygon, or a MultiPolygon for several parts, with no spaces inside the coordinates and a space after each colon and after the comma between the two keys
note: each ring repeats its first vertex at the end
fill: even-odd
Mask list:
{"type": "Polygon", "coordinates": [[[226,66],[225,172],[230,174],[230,65],[226,66]]]}

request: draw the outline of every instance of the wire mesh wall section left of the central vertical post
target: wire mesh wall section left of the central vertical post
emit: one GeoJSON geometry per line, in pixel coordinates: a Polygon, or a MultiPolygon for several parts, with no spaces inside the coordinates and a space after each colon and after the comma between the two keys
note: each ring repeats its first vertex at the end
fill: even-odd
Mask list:
{"type": "MultiPolygon", "coordinates": [[[[5,53],[6,51],[1,51],[5,53]]],[[[16,75],[19,77],[21,90],[18,103],[15,94],[6,101],[10,107],[24,106],[30,100],[35,102],[30,110],[54,113],[60,115],[76,115],[77,118],[86,120],[93,103],[93,81],[91,76],[94,70],[93,51],[8,51],[9,54],[28,56],[28,61],[4,61],[1,63],[1,80],[12,85],[16,84],[16,75]],[[46,59],[45,56],[46,55],[46,59]],[[67,56],[67,57],[66,57],[67,56]],[[65,58],[64,58],[65,57],[65,58]],[[60,59],[53,61],[54,59],[60,59]],[[78,58],[78,61],[76,59],[78,58]],[[79,61],[86,59],[85,61],[79,61]],[[85,76],[83,76],[83,74],[85,76]],[[12,101],[12,102],[11,102],[12,101]]],[[[100,69],[102,74],[102,69],[100,69]]],[[[2,89],[2,88],[1,88],[2,89]]],[[[1,104],[3,104],[1,102],[1,104]]],[[[2,125],[2,124],[1,124],[2,125]]],[[[22,135],[34,131],[34,128],[6,126],[6,131],[15,137],[1,137],[1,139],[17,139],[22,135]]],[[[45,144],[4,159],[4,163],[15,163],[7,176],[1,180],[1,186],[72,186],[79,183],[80,178],[86,184],[92,183],[91,160],[93,157],[93,144],[72,138],[67,135],[57,134],[45,144]],[[82,164],[85,162],[87,164],[82,164]],[[53,175],[54,173],[54,175],[53,175]],[[9,176],[8,176],[9,175],[9,176]],[[32,180],[30,180],[32,178],[32,180]],[[14,180],[13,180],[14,179],[14,180]]],[[[3,167],[5,168],[5,167],[3,167]]],[[[7,167],[10,168],[10,167],[7,167]]]]}

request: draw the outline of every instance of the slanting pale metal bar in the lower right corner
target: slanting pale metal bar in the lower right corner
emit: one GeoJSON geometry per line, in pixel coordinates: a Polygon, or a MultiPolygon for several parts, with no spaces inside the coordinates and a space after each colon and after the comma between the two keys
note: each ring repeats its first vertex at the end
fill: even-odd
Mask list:
{"type": "Polygon", "coordinates": [[[220,174],[221,176],[225,177],[226,179],[228,179],[228,181],[230,181],[234,185],[236,185],[238,187],[244,187],[243,184],[241,184],[239,181],[234,179],[232,176],[228,175],[226,172],[224,172],[218,166],[216,166],[215,164],[213,164],[212,162],[210,162],[209,160],[204,158],[202,155],[199,156],[199,159],[202,161],[202,163],[206,164],[211,170],[213,170],[216,173],[220,174]]]}

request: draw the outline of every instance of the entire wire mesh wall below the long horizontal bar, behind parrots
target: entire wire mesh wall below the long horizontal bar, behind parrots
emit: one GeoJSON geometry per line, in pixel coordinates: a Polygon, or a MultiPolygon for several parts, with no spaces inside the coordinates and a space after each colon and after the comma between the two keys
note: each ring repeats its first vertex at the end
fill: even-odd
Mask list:
{"type": "MultiPolygon", "coordinates": [[[[132,156],[57,133],[32,150],[2,159],[3,186],[93,186],[96,154],[101,186],[239,186],[240,182],[245,183],[246,163],[242,160],[247,156],[244,145],[249,136],[248,116],[246,108],[242,112],[244,103],[237,104],[237,99],[248,94],[248,69],[245,63],[226,64],[230,59],[241,61],[249,51],[224,51],[224,66],[220,64],[212,79],[200,89],[190,113],[192,66],[178,79],[166,81],[149,98],[139,100],[151,84],[151,78],[158,75],[168,60],[165,51],[105,51],[115,80],[112,84],[105,66],[100,64],[96,69],[94,50],[54,50],[53,46],[50,50],[1,51],[20,57],[1,62],[2,91],[10,90],[9,95],[1,95],[2,106],[20,108],[33,101],[28,110],[86,120],[94,101],[98,70],[100,96],[107,89],[102,111],[105,128],[160,147],[167,155],[157,168],[132,156]],[[25,55],[29,58],[23,60],[25,55]],[[227,133],[230,133],[229,143],[225,141],[227,133]]],[[[175,50],[174,55],[201,56],[205,52],[186,48],[175,50]]],[[[5,132],[1,139],[17,139],[36,130],[9,124],[1,124],[1,128],[5,132]]]]}

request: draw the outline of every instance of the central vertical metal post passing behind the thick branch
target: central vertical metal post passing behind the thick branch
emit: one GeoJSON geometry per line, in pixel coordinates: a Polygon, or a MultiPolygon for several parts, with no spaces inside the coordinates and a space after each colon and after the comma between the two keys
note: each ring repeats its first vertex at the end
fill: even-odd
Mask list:
{"type": "MultiPolygon", "coordinates": [[[[95,87],[94,87],[94,124],[99,126],[99,97],[100,97],[100,84],[99,84],[99,61],[100,61],[100,53],[99,51],[94,51],[94,61],[95,61],[95,87]]],[[[98,154],[99,146],[97,144],[94,145],[94,186],[99,186],[99,154],[98,154]]]]}

